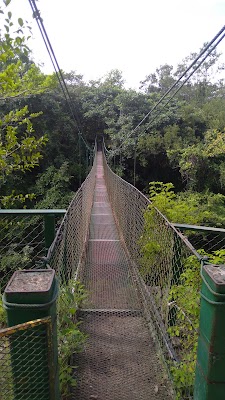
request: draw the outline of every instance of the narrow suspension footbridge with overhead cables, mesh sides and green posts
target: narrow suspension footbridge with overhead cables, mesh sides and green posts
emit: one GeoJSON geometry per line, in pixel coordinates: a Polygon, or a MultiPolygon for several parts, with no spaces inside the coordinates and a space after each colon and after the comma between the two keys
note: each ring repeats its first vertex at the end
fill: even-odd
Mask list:
{"type": "MultiPolygon", "coordinates": [[[[29,3],[77,127],[81,165],[81,144],[92,149],[29,3]]],[[[151,128],[224,30],[112,152],[134,141],[134,182],[139,127],[151,128]]],[[[170,223],[97,148],[68,210],[0,210],[0,400],[224,400],[225,267],[196,250],[224,249],[224,238],[224,229],[170,223]]]]}

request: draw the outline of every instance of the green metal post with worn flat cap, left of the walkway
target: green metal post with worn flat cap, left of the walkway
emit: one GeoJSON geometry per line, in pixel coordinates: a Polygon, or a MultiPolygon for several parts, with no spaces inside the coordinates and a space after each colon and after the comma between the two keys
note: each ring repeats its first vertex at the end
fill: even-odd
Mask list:
{"type": "MultiPolygon", "coordinates": [[[[16,271],[11,277],[4,295],[3,305],[7,312],[8,326],[22,324],[39,318],[51,317],[53,362],[54,362],[54,393],[50,399],[59,400],[59,374],[58,374],[58,344],[57,344],[57,321],[56,321],[56,299],[58,296],[58,285],[55,279],[55,271],[52,269],[21,270],[16,271]]],[[[37,335],[38,337],[38,335],[37,335]]],[[[43,338],[44,340],[44,338],[43,338]]],[[[46,340],[46,339],[45,339],[46,340]]],[[[35,345],[35,339],[26,339],[28,352],[19,352],[18,341],[10,342],[11,364],[14,381],[15,400],[33,400],[43,398],[42,386],[45,385],[49,391],[51,386],[50,375],[46,368],[38,370],[34,359],[47,358],[46,349],[40,348],[40,340],[35,345]],[[32,357],[29,359],[29,351],[32,348],[32,357]],[[41,354],[40,354],[41,353],[41,354]],[[35,356],[36,355],[36,356],[35,356]],[[18,381],[17,376],[20,376],[18,381]],[[31,382],[33,384],[31,385],[31,382]]],[[[46,360],[48,365],[48,361],[46,360]]],[[[48,396],[46,395],[46,399],[48,396]]]]}

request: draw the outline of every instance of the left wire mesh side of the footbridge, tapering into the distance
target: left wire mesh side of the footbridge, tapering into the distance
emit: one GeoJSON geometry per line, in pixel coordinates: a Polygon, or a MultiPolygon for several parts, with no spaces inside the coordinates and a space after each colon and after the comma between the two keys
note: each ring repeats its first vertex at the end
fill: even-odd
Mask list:
{"type": "Polygon", "coordinates": [[[76,192],[63,218],[48,254],[48,264],[55,269],[62,284],[76,279],[83,267],[94,196],[96,157],[84,183],[76,192]]]}

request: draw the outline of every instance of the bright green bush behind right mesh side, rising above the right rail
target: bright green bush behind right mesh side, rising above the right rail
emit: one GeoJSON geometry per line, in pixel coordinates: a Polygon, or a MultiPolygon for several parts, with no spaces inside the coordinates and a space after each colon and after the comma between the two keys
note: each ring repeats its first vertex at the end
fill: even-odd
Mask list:
{"type": "MultiPolygon", "coordinates": [[[[151,182],[149,198],[151,204],[144,214],[144,232],[140,238],[140,271],[146,282],[153,279],[152,274],[156,281],[158,275],[160,277],[164,273],[166,276],[167,272],[164,265],[170,264],[173,257],[173,249],[171,249],[171,243],[174,240],[172,231],[165,231],[162,239],[164,228],[160,228],[161,220],[155,208],[161,211],[170,222],[174,223],[217,227],[223,227],[225,224],[225,196],[220,193],[214,194],[209,191],[205,193],[193,191],[175,193],[172,183],[151,182]],[[154,269],[156,263],[158,265],[157,271],[154,269]],[[163,265],[164,272],[160,270],[159,265],[163,265]]],[[[197,243],[197,239],[200,239],[201,246],[203,246],[202,234],[186,231],[185,235],[193,243],[197,243]]]]}

